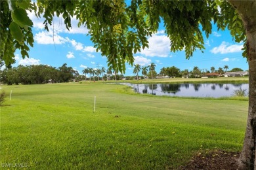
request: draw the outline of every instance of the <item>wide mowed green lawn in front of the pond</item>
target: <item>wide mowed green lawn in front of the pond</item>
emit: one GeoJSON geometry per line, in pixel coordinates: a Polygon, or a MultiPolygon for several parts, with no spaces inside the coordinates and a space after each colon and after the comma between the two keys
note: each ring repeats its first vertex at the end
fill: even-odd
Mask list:
{"type": "Polygon", "coordinates": [[[25,169],[175,169],[240,151],[248,101],[133,94],[118,84],[3,86],[1,163],[25,169]],[[96,112],[93,113],[96,95],[96,112]]]}

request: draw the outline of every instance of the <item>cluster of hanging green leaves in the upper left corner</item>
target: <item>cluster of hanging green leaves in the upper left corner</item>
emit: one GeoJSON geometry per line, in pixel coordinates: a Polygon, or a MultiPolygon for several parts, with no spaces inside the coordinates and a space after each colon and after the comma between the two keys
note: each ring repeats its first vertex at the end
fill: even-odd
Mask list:
{"type": "Polygon", "coordinates": [[[31,1],[1,1],[1,53],[0,58],[9,67],[14,60],[14,52],[20,50],[22,58],[28,57],[33,46],[32,21],[26,10],[35,10],[31,1]],[[10,7],[9,7],[10,6],[10,7]]]}

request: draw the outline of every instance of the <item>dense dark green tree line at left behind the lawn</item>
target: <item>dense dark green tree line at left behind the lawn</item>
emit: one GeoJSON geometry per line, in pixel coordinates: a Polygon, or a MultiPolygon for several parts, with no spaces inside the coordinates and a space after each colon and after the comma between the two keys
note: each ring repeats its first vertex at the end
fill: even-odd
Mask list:
{"type": "Polygon", "coordinates": [[[78,71],[64,63],[61,67],[49,65],[29,65],[5,68],[0,72],[3,84],[43,84],[50,82],[68,82],[79,76],[78,71]]]}

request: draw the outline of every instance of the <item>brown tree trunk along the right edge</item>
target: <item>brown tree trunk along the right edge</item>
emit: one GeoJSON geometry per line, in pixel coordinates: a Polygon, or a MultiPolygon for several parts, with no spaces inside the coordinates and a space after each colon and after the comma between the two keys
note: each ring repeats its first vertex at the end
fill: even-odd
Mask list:
{"type": "Polygon", "coordinates": [[[256,169],[256,1],[229,1],[240,14],[247,37],[249,63],[249,108],[244,146],[238,169],[256,169]]]}

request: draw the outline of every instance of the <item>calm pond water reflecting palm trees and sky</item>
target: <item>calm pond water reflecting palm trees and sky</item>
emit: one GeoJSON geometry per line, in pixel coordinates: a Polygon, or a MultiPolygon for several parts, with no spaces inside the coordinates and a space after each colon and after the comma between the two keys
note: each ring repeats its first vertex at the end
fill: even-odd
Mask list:
{"type": "Polygon", "coordinates": [[[138,93],[183,97],[224,97],[234,95],[234,90],[246,89],[249,84],[126,84],[138,93]]]}

